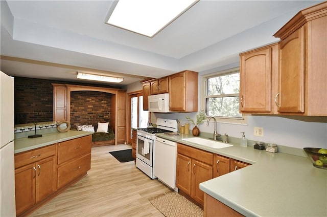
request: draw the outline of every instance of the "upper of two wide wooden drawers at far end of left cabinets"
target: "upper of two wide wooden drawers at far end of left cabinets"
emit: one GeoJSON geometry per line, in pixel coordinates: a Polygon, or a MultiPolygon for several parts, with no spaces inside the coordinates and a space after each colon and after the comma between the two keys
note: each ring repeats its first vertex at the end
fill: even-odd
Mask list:
{"type": "Polygon", "coordinates": [[[58,164],[91,152],[91,135],[58,144],[58,164]]]}

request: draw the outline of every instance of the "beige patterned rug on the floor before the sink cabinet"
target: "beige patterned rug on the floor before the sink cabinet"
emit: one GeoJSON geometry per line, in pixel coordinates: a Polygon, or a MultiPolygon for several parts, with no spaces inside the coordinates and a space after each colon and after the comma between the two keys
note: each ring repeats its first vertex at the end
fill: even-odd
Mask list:
{"type": "Polygon", "coordinates": [[[200,207],[175,191],[159,194],[156,197],[150,198],[149,201],[166,217],[203,216],[203,210],[200,207]]]}

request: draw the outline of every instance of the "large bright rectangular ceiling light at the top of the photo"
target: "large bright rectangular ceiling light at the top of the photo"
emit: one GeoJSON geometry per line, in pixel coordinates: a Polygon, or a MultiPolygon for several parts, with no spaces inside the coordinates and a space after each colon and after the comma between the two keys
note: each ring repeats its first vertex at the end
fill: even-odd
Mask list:
{"type": "Polygon", "coordinates": [[[200,0],[114,1],[106,24],[148,37],[155,36],[200,0]]]}

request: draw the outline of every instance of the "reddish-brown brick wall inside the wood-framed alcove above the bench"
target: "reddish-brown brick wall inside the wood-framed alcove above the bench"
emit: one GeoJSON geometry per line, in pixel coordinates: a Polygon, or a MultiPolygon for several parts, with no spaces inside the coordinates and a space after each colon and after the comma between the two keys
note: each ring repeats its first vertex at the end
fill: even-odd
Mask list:
{"type": "Polygon", "coordinates": [[[71,125],[93,124],[110,120],[112,94],[97,91],[71,92],[71,125]]]}

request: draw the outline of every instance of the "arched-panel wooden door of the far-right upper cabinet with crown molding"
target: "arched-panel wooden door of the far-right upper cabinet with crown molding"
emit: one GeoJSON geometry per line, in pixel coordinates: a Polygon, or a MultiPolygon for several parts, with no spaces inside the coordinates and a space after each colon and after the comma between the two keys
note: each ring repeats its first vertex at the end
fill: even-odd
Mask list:
{"type": "MultiPolygon", "coordinates": [[[[305,27],[279,43],[278,112],[305,112],[305,27]]],[[[277,99],[276,99],[277,100],[277,99]]]]}

